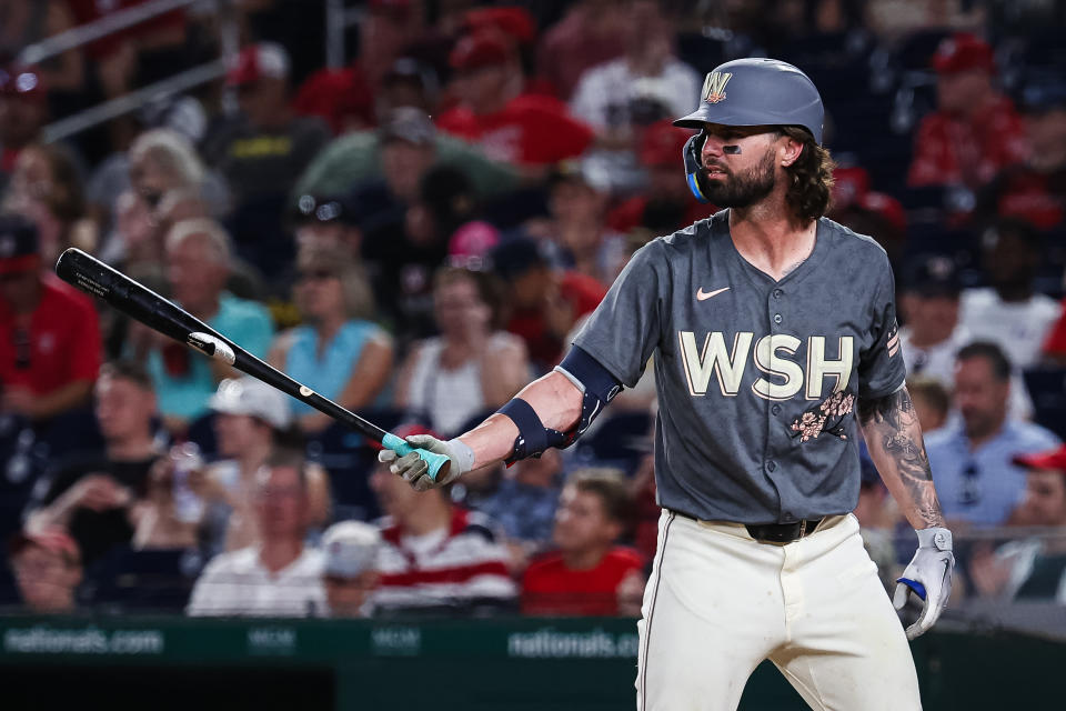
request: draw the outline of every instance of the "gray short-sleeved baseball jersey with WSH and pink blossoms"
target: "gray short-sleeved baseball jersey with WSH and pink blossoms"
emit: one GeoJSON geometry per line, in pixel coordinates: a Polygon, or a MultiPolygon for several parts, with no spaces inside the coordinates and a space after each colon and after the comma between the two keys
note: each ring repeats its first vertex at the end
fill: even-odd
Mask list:
{"type": "Polygon", "coordinates": [[[852,511],[856,398],[906,374],[885,251],[825,218],[777,282],[736,251],[727,210],[658,238],[574,343],[626,387],[654,353],[660,504],[741,523],[852,511]]]}

